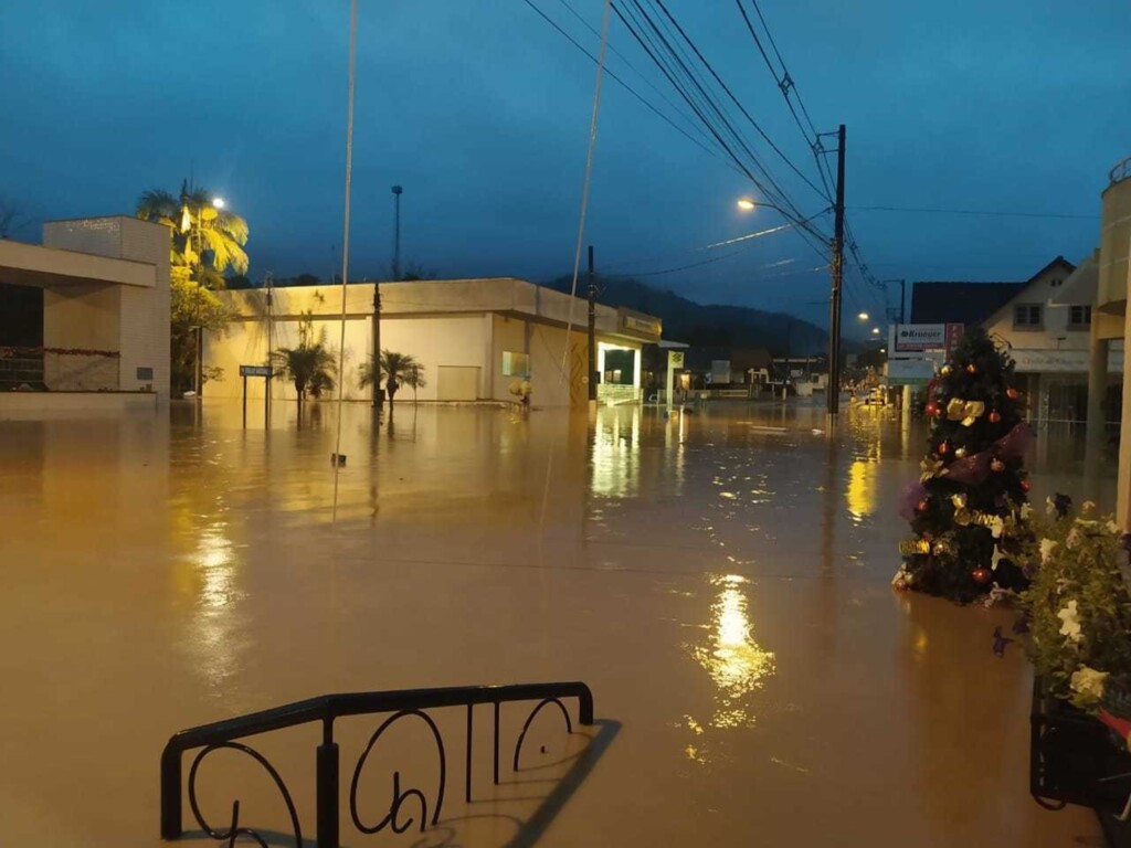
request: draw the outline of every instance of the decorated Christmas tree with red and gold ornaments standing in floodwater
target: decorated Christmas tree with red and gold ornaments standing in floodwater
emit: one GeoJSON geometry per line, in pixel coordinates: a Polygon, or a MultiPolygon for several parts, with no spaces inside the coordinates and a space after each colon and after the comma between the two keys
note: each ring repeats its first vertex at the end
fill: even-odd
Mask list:
{"type": "Polygon", "coordinates": [[[923,476],[901,508],[915,538],[900,544],[893,586],[959,603],[1026,587],[1012,559],[1029,513],[1022,410],[1012,358],[984,330],[968,331],[927,387],[923,476]]]}

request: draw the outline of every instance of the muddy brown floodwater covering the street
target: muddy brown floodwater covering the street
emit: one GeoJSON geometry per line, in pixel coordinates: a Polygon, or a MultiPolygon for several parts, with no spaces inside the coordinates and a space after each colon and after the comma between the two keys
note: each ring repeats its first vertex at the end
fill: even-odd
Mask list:
{"type": "MultiPolygon", "coordinates": [[[[571,680],[605,735],[538,845],[1099,843],[1087,811],[1027,794],[1030,674],[991,651],[1010,614],[889,587],[923,425],[849,408],[829,432],[793,401],[671,421],[405,403],[374,427],[347,406],[336,478],[335,416],[0,422],[0,845],[158,845],[158,758],[185,727],[571,680]]],[[[1080,459],[1043,434],[1034,499],[1114,505],[1080,459]]],[[[566,743],[546,728],[549,756],[566,743]]],[[[317,739],[271,744],[312,837],[317,739]]],[[[431,773],[404,745],[403,770],[431,773]]],[[[487,775],[468,806],[461,751],[443,827],[365,837],[345,813],[343,843],[529,841],[561,770],[487,775]]],[[[241,797],[242,824],[286,830],[261,775],[235,782],[214,823],[241,797]]]]}

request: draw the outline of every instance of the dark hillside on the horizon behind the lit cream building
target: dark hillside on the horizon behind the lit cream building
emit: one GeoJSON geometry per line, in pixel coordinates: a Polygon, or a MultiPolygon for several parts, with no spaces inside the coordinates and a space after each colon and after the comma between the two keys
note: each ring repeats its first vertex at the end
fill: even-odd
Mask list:
{"type": "MultiPolygon", "coordinates": [[[[570,278],[560,277],[551,288],[568,292],[570,278]]],[[[584,285],[584,279],[579,286],[584,285]]],[[[697,347],[768,347],[775,354],[793,356],[824,353],[828,332],[808,321],[782,312],[750,306],[702,305],[687,297],[653,288],[634,279],[597,278],[598,301],[656,315],[664,321],[664,338],[697,347]]],[[[578,294],[584,296],[584,292],[578,294]]]]}

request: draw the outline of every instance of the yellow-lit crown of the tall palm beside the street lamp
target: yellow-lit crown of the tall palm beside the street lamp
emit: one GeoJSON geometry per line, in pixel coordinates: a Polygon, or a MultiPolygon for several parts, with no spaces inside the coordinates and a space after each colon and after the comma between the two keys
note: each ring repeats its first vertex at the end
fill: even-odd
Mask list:
{"type": "Polygon", "coordinates": [[[216,208],[211,192],[181,184],[174,197],[163,189],[149,189],[138,198],[137,217],[164,224],[172,231],[170,260],[188,269],[206,288],[223,288],[224,271],[248,272],[248,222],[226,209],[216,208]]]}

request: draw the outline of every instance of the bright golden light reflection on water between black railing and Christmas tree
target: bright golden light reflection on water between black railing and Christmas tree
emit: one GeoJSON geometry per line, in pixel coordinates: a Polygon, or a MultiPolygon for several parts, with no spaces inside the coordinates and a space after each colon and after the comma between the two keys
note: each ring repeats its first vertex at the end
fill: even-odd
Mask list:
{"type": "MultiPolygon", "coordinates": [[[[710,607],[710,622],[705,626],[705,639],[698,644],[685,646],[694,660],[706,669],[714,684],[715,709],[711,718],[701,722],[691,716],[685,724],[697,736],[706,727],[751,727],[756,716],[749,696],[761,689],[775,672],[774,654],[765,650],[751,635],[749,600],[744,587],[750,581],[740,574],[710,574],[711,585],[718,589],[710,607]]],[[[687,749],[689,759],[703,761],[696,745],[687,749]]]]}

